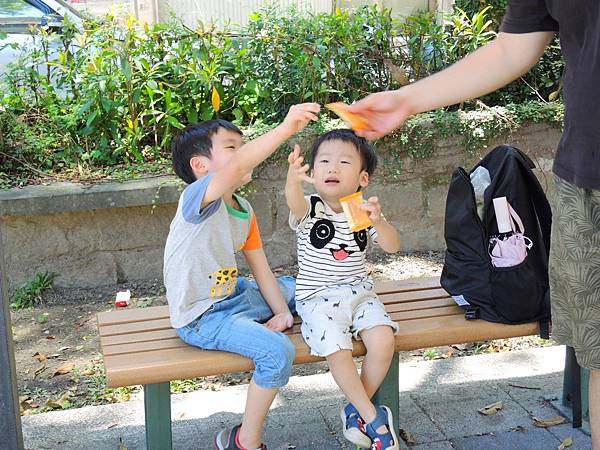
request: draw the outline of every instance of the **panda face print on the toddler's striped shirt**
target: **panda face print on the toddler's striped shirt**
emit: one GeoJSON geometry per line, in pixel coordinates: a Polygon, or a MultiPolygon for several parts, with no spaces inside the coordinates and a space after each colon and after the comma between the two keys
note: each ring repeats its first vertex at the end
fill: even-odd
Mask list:
{"type": "MultiPolygon", "coordinates": [[[[311,197],[311,218],[323,216],[325,205],[318,197],[311,197]]],[[[336,239],[336,229],[333,222],[326,218],[317,220],[310,230],[310,243],[317,249],[327,248],[336,261],[343,261],[356,251],[364,251],[367,248],[367,232],[361,230],[353,233],[354,243],[349,246],[346,241],[336,239]],[[356,244],[354,247],[353,244],[356,244]]]]}

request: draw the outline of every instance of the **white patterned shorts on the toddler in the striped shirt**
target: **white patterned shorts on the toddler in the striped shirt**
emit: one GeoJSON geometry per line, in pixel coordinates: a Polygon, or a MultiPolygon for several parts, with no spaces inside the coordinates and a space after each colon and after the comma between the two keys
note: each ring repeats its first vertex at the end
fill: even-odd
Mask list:
{"type": "Polygon", "coordinates": [[[377,294],[362,284],[339,286],[299,301],[296,309],[302,317],[302,336],[316,356],[328,356],[340,350],[352,350],[352,338],[360,332],[388,325],[398,333],[398,324],[385,312],[377,294]]]}

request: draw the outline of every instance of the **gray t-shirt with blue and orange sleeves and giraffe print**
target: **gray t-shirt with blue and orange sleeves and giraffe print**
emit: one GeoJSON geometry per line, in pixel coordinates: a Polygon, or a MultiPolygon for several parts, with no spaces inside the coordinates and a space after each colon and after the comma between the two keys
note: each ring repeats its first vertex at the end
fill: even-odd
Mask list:
{"type": "Polygon", "coordinates": [[[262,247],[247,200],[235,196],[243,211],[223,199],[200,209],[211,179],[207,175],[185,188],[167,237],[163,275],[173,328],[187,325],[232,294],[237,283],[235,253],[262,247]]]}

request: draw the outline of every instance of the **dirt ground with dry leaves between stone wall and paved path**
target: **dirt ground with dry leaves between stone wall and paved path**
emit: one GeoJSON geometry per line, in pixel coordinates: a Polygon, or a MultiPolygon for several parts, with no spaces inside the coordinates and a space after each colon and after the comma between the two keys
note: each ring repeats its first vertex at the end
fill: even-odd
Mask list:
{"type": "MultiPolygon", "coordinates": [[[[373,260],[373,258],[372,258],[373,260]]],[[[385,255],[371,264],[375,279],[406,279],[440,274],[443,253],[385,255]]],[[[294,274],[295,267],[278,268],[276,274],[294,274]]],[[[104,386],[96,314],[115,308],[114,296],[129,289],[132,307],[166,304],[162,280],[145,280],[94,289],[47,291],[40,306],[12,311],[14,351],[23,414],[90,404],[125,401],[138,388],[107,390],[104,386]]],[[[404,352],[402,360],[460,356],[481,351],[503,351],[548,345],[537,338],[471,344],[404,352]]],[[[295,367],[296,375],[325,372],[324,363],[295,367]]],[[[179,382],[176,392],[247,382],[249,374],[234,374],[179,382]]]]}

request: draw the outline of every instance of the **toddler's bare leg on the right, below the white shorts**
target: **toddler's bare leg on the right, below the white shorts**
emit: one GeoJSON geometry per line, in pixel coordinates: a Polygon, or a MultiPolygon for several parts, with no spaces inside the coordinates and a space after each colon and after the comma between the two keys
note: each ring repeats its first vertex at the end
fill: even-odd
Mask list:
{"type": "Polygon", "coordinates": [[[394,331],[387,325],[377,326],[361,331],[360,338],[367,348],[360,378],[365,392],[371,398],[390,368],[394,355],[394,331]]]}

